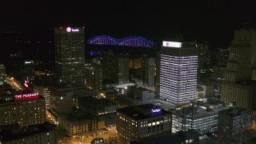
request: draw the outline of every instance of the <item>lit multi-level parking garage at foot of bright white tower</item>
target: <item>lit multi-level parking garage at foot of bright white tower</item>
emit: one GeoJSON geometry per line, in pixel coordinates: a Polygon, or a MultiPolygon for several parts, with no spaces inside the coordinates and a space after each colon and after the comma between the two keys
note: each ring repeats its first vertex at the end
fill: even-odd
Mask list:
{"type": "Polygon", "coordinates": [[[230,109],[230,104],[219,102],[214,98],[198,101],[191,107],[174,111],[172,114],[172,133],[178,131],[197,130],[201,134],[217,131],[218,112],[230,109]]]}

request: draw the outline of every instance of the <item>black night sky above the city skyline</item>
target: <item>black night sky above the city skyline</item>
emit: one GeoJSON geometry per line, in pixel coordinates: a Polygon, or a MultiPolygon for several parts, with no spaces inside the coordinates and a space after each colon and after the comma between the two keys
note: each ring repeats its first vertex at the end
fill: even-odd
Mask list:
{"type": "Polygon", "coordinates": [[[161,42],[182,34],[186,41],[209,40],[229,45],[234,30],[256,27],[253,1],[4,1],[0,31],[21,31],[51,37],[54,26],[85,26],[88,38],[142,36],[161,42]]]}

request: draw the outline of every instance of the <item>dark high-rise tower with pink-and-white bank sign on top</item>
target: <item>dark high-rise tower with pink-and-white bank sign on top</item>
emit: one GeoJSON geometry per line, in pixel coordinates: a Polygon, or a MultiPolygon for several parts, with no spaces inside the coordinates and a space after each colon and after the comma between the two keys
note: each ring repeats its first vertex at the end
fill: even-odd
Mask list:
{"type": "Polygon", "coordinates": [[[54,30],[56,75],[60,82],[84,83],[84,28],[58,27],[54,30]]]}

